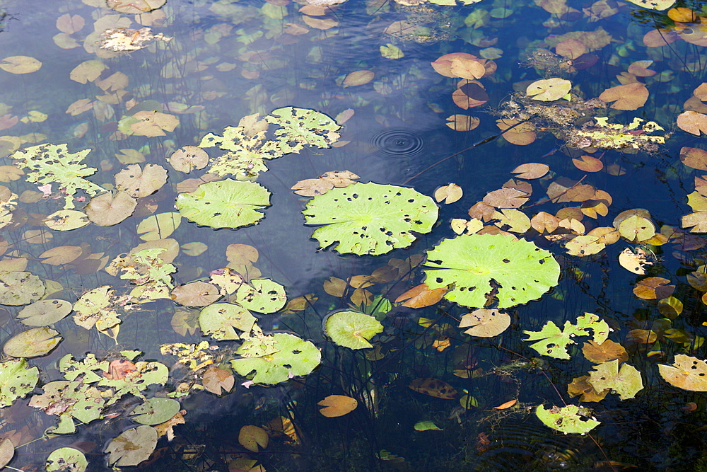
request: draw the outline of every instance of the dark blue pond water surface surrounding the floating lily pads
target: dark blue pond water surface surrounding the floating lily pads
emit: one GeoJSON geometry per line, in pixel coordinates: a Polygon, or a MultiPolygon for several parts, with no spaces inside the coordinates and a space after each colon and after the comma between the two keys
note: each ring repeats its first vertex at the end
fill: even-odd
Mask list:
{"type": "MultiPolygon", "coordinates": [[[[139,0],[132,6],[147,11],[158,3],[139,0]]],[[[119,255],[163,236],[170,240],[158,242],[163,247],[177,251],[180,246],[172,262],[176,271],[170,275],[175,286],[208,282],[210,272],[224,267],[246,280],[269,278],[283,285],[288,306],[276,313],[255,313],[258,326],[265,333],[310,340],[322,360],[309,375],[291,375],[271,386],[251,385],[252,374],[240,376],[228,362],[239,357],[234,352],[240,341],[202,335],[200,308],[177,304],[169,290],[165,297],[139,303],[114,300],[119,330],[99,333],[95,327],[76,326],[74,316],[67,316],[51,323],[63,338],[54,350],[26,355],[29,365],[40,371],[35,390],[0,409],[0,439],[10,440],[0,446],[0,464],[6,461],[6,470],[45,470],[47,456],[61,447],[82,451],[87,470],[110,470],[106,448],[119,434],[139,426],[129,413],[144,401],[140,396],[176,396],[184,420],[174,425],[169,438],[157,426],[155,452],[139,466],[153,471],[707,470],[707,403],[701,393],[707,386],[696,379],[691,388],[679,388],[658,371],[659,364],[672,364],[675,355],[706,357],[706,241],[701,228],[694,234],[682,229],[681,218],[707,210],[707,200],[698,194],[687,205],[687,195],[701,187],[695,178],[707,170],[707,159],[694,166],[681,162],[681,149],[705,146],[701,137],[677,125],[685,110],[707,110],[700,100],[705,96],[693,94],[705,79],[707,64],[701,45],[707,45],[701,37],[707,37],[707,12],[699,2],[676,5],[684,9],[668,13],[612,0],[483,0],[452,6],[349,0],[319,7],[305,6],[304,0],[168,0],[142,15],[119,12],[130,8],[129,0],[108,4],[118,11],[103,0],[0,2],[3,57],[25,57],[16,59],[23,64],[31,64],[28,58],[41,62],[40,69],[25,74],[0,71],[0,151],[5,158],[0,190],[16,194],[6,212],[11,216],[0,229],[0,272],[31,272],[45,282],[49,299],[71,304],[101,286],[129,298],[136,284],[106,269],[119,255]],[[100,35],[108,28],[122,28],[129,45],[140,39],[140,28],[151,28],[151,34],[168,40],[153,39],[132,52],[102,50],[100,35]],[[664,45],[660,38],[667,38],[664,45]],[[404,55],[397,57],[398,52],[404,55]],[[431,66],[443,54],[461,52],[486,64],[478,81],[463,81],[468,72],[443,76],[431,66]],[[81,79],[75,68],[88,61],[86,69],[100,74],[81,79]],[[357,74],[367,79],[357,79],[357,74]],[[550,78],[571,81],[569,100],[527,97],[528,85],[550,78]],[[608,88],[636,82],[645,84],[645,103],[612,109],[599,100],[602,106],[562,124],[550,117],[562,113],[559,107],[572,108],[608,88]],[[478,106],[456,105],[455,100],[466,100],[464,94],[478,106]],[[510,111],[516,105],[525,115],[510,111]],[[262,117],[289,106],[337,117],[343,125],[341,138],[328,149],[305,146],[299,154],[266,162],[269,171],[257,177],[271,192],[264,219],[237,230],[211,229],[175,213],[180,219],[175,231],[167,231],[167,220],[160,220],[161,233],[146,239],[141,222],[176,212],[175,198],[187,191],[187,179],[208,180],[204,175],[209,168],[183,173],[170,166],[166,159],[174,151],[197,146],[207,133],[221,135],[247,115],[262,117]],[[533,106],[546,107],[546,115],[529,111],[533,106]],[[164,113],[178,125],[157,136],[135,132],[131,117],[139,110],[164,113]],[[475,117],[479,124],[457,131],[446,125],[452,115],[464,115],[459,120],[475,117]],[[665,143],[640,149],[602,148],[596,142],[594,147],[566,145],[583,126],[597,131],[592,120],[605,116],[619,125],[636,117],[655,121],[665,128],[655,132],[665,143]],[[521,124],[515,132],[533,131],[535,139],[520,144],[517,133],[499,136],[496,120],[502,119],[527,120],[534,129],[521,124]],[[91,149],[84,163],[97,171],[88,180],[106,190],[115,190],[114,175],[135,163],[162,166],[168,181],[139,197],[132,216],[119,224],[49,229],[47,215],[64,205],[62,185],[37,189],[40,185],[29,182],[27,174],[13,173],[17,161],[9,157],[18,149],[47,143],[66,143],[71,153],[91,149]],[[589,156],[592,165],[599,159],[602,166],[588,169],[581,156],[589,156]],[[547,164],[549,173],[509,182],[511,171],[523,163],[547,164]],[[423,195],[455,183],[463,197],[440,203],[433,231],[419,235],[409,248],[385,255],[339,255],[311,238],[312,226],[305,226],[302,217],[310,197],[291,188],[300,180],[345,170],[361,182],[404,185],[423,195]],[[557,184],[565,188],[559,196],[553,190],[557,184]],[[520,212],[526,219],[539,212],[556,215],[559,229],[538,231],[518,214],[513,224],[504,226],[499,222],[503,214],[492,214],[501,209],[487,206],[482,232],[503,229],[546,249],[561,267],[559,283],[536,301],[506,310],[510,327],[489,338],[464,334],[459,321],[471,310],[452,301],[423,308],[395,303],[422,282],[425,251],[455,236],[452,219],[469,219],[472,205],[503,187],[531,187],[520,212]],[[627,217],[622,212],[631,210],[649,221],[645,231],[655,231],[636,238],[626,236],[629,230],[615,232],[627,217]],[[591,255],[573,252],[572,243],[581,241],[573,239],[595,228],[615,234],[614,241],[591,255]],[[234,262],[227,256],[234,247],[230,245],[255,248],[257,260],[234,262]],[[51,263],[45,253],[52,248],[60,254],[78,252],[73,259],[51,263]],[[646,266],[645,275],[619,265],[619,253],[626,248],[646,252],[653,264],[646,266]],[[380,267],[392,275],[380,277],[380,267]],[[338,280],[343,284],[355,276],[344,294],[332,289],[338,280]],[[646,277],[663,277],[674,291],[659,289],[658,294],[638,297],[634,287],[646,277]],[[325,336],[322,321],[337,309],[364,311],[380,321],[383,330],[371,340],[373,349],[351,350],[325,336]],[[606,321],[612,328],[609,340],[626,350],[621,365],[634,367],[643,386],[635,398],[621,400],[609,391],[601,401],[580,402],[568,393],[573,379],[598,364],[583,355],[590,338],[571,338],[576,343],[568,347],[570,359],[543,356],[524,342],[524,330],[542,330],[547,321],[563,327],[585,312],[606,321]],[[184,386],[200,385],[206,367],[190,370],[177,357],[163,355],[160,345],[185,343],[194,350],[204,340],[213,347],[214,365],[235,376],[235,385],[222,396],[197,390],[176,395],[184,386]],[[87,424],[69,418],[76,424],[73,434],[52,434],[61,411],[46,405],[33,408],[30,401],[42,393],[42,386],[64,379],[59,359],[83,359],[90,353],[110,361],[123,359],[118,352],[124,350],[143,352],[135,362],[163,362],[170,367],[168,381],[120,397],[87,424]],[[454,392],[413,388],[420,379],[445,382],[454,392]],[[326,418],[317,402],[329,395],[355,398],[358,406],[326,418]],[[503,408],[494,408],[499,405],[503,408]],[[582,405],[601,424],[588,434],[563,434],[542,424],[535,415],[538,405],[582,405]],[[247,449],[245,426],[262,428],[267,447],[247,449]]],[[[619,95],[636,98],[641,93],[633,88],[619,95]]],[[[514,123],[518,121],[505,126],[514,123]]],[[[645,143],[641,135],[653,135],[641,128],[622,132],[640,143],[645,143]]],[[[219,154],[213,147],[207,151],[211,159],[219,154]]],[[[75,197],[77,210],[90,200],[81,190],[75,197]]],[[[512,207],[518,205],[502,210],[507,217],[515,212],[512,207]]],[[[28,329],[17,318],[21,309],[1,308],[1,343],[28,329]]],[[[3,355],[3,361],[13,359],[3,355]]],[[[692,379],[694,374],[686,372],[692,379]]],[[[0,382],[8,382],[1,376],[0,382]]],[[[0,383],[0,389],[8,385],[0,383]]],[[[102,391],[105,398],[115,393],[102,391]]],[[[68,470],[82,470],[76,467],[68,470]]]]}

